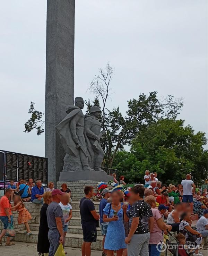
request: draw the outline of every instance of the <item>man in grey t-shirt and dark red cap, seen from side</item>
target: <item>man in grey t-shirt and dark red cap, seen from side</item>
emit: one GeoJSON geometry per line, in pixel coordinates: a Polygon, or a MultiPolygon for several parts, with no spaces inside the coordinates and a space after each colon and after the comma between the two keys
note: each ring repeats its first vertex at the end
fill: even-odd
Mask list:
{"type": "Polygon", "coordinates": [[[61,201],[62,195],[65,194],[59,189],[54,189],[52,191],[53,201],[47,207],[47,223],[49,227],[48,238],[50,242],[49,256],[53,256],[57,250],[60,243],[64,243],[64,220],[63,212],[59,203],[61,201]]]}

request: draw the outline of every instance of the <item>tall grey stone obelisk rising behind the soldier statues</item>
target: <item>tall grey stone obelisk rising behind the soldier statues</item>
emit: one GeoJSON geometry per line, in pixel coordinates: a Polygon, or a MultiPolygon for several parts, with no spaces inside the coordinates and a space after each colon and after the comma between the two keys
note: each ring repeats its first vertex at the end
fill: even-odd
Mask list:
{"type": "Polygon", "coordinates": [[[47,0],[45,157],[48,180],[56,182],[65,152],[55,126],[73,104],[75,0],[47,0]]]}

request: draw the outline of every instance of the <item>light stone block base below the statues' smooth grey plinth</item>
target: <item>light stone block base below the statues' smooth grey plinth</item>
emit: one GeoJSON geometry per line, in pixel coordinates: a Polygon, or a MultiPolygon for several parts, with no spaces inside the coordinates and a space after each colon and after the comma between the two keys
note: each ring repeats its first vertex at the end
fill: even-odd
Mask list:
{"type": "Polygon", "coordinates": [[[93,186],[95,188],[94,192],[97,192],[97,184],[98,181],[58,181],[57,188],[61,189],[61,184],[66,183],[67,187],[71,189],[71,197],[73,201],[79,201],[81,198],[85,196],[84,187],[85,186],[93,186]]]}

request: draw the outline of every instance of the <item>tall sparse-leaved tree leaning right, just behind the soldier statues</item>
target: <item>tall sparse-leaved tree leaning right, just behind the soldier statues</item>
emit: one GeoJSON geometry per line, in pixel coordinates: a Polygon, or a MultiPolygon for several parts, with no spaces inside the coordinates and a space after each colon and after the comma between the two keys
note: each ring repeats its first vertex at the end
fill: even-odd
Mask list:
{"type": "Polygon", "coordinates": [[[128,110],[123,117],[118,108],[108,110],[106,127],[109,130],[109,148],[106,148],[107,165],[112,167],[115,155],[124,145],[131,142],[140,130],[147,129],[159,118],[175,118],[183,106],[182,99],[174,99],[168,95],[162,101],[157,98],[157,92],[149,95],[139,94],[138,99],[128,101],[128,110]]]}

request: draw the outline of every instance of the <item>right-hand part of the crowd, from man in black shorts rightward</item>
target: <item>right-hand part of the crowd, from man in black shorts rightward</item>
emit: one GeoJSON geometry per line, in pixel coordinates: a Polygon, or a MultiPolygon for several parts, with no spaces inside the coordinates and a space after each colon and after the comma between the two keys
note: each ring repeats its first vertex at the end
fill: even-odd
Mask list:
{"type": "MultiPolygon", "coordinates": [[[[146,172],[145,175],[147,174],[146,172]]],[[[189,194],[195,185],[190,178],[190,175],[187,175],[177,188],[173,185],[169,187],[164,185],[161,188],[161,182],[158,180],[148,180],[149,184],[146,188],[136,185],[130,190],[128,202],[123,200],[121,191],[103,189],[103,199],[99,204],[99,220],[103,235],[102,256],[112,256],[114,251],[117,256],[159,256],[161,251],[158,248],[162,247],[163,236],[167,231],[176,231],[178,233],[176,239],[181,245],[193,244],[194,256],[202,255],[197,245],[201,245],[202,238],[207,237],[208,214],[207,209],[203,209],[203,215],[197,222],[199,224],[196,229],[191,227],[194,215],[192,198],[189,194]],[[177,189],[179,190],[176,191],[177,189]],[[186,197],[176,198],[183,191],[186,197]],[[165,222],[164,219],[167,221],[165,222]]],[[[92,197],[93,189],[93,187],[87,187],[85,190],[87,198],[92,197]]],[[[195,191],[192,191],[192,197],[193,192],[195,191]]],[[[89,256],[90,245],[96,241],[95,232],[92,231],[96,230],[98,214],[95,212],[92,201],[89,202],[90,207],[81,202],[80,209],[84,208],[81,214],[84,231],[82,256],[89,256]],[[86,213],[89,216],[87,220],[86,213]],[[84,219],[85,222],[83,222],[84,219]]],[[[190,252],[184,251],[186,255],[190,252]]],[[[179,250],[179,255],[182,256],[182,252],[183,250],[179,250]]]]}

